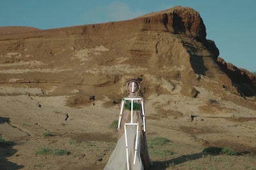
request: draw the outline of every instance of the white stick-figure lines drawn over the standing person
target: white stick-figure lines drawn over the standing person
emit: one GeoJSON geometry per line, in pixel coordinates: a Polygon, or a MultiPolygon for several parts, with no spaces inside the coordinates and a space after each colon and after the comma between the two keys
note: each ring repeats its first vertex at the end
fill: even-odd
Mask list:
{"type": "MultiPolygon", "coordinates": [[[[132,91],[134,84],[132,84],[132,91]]],[[[137,129],[136,129],[136,143],[135,143],[135,151],[134,151],[134,160],[133,160],[133,164],[135,164],[136,161],[136,153],[137,153],[137,148],[138,148],[138,130],[139,130],[139,124],[138,123],[133,123],[133,101],[140,101],[141,103],[141,111],[142,111],[142,115],[143,115],[143,131],[146,132],[146,124],[145,124],[145,112],[144,112],[144,104],[143,104],[143,100],[141,100],[141,97],[134,97],[134,98],[130,98],[130,97],[125,97],[124,100],[122,101],[122,106],[121,106],[121,110],[120,110],[120,116],[119,116],[119,120],[118,120],[118,127],[120,127],[121,124],[121,119],[122,119],[122,112],[124,109],[124,102],[125,101],[131,101],[131,123],[125,123],[124,124],[124,132],[125,132],[125,148],[126,148],[126,159],[127,159],[127,170],[129,170],[129,155],[128,155],[128,143],[127,143],[127,133],[126,133],[126,126],[127,125],[136,125],[137,129]]]]}

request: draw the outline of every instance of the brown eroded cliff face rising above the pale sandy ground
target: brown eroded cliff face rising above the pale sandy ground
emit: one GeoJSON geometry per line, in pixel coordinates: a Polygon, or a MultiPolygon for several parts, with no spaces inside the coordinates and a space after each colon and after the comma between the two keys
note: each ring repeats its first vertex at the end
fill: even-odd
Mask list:
{"type": "Polygon", "coordinates": [[[147,96],[172,94],[188,85],[255,95],[234,86],[232,72],[217,64],[218,48],[205,39],[204,22],[191,8],[177,6],[106,24],[17,29],[1,29],[8,31],[0,34],[4,85],[40,87],[52,94],[76,89],[115,98],[124,93],[127,80],[138,78],[147,96]]]}

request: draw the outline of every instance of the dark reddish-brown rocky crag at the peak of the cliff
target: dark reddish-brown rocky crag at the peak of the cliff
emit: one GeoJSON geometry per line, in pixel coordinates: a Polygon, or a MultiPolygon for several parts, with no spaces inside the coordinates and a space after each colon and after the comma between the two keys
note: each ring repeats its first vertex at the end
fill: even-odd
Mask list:
{"type": "Polygon", "coordinates": [[[200,14],[192,8],[176,6],[169,10],[149,13],[143,18],[143,30],[169,31],[173,34],[185,34],[200,41],[205,41],[205,25],[200,14]]]}

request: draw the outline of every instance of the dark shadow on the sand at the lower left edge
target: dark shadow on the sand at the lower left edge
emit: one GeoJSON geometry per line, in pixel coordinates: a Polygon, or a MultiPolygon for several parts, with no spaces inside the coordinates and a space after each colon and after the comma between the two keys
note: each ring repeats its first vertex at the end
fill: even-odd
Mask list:
{"type": "MultiPolygon", "coordinates": [[[[0,124],[10,123],[10,118],[0,117],[0,124]]],[[[7,158],[14,155],[17,150],[13,149],[13,146],[17,145],[12,141],[4,141],[2,134],[0,134],[0,169],[21,169],[24,166],[19,166],[13,162],[10,162],[7,158]]]]}

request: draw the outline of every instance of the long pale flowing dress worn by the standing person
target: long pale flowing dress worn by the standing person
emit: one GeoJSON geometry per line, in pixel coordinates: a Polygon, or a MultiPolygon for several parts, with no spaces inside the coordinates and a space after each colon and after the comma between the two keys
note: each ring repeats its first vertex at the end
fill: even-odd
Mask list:
{"type": "MultiPolygon", "coordinates": [[[[137,106],[140,102],[137,102],[137,106]]],[[[140,105],[141,106],[141,105],[140,105]]],[[[127,146],[128,146],[128,157],[129,157],[129,170],[143,170],[148,169],[151,162],[147,150],[147,139],[145,132],[142,131],[143,121],[141,115],[141,107],[138,106],[132,111],[132,122],[138,123],[138,146],[137,151],[135,150],[136,145],[136,125],[126,125],[127,134],[127,146]],[[134,153],[135,164],[134,164],[134,153]]],[[[125,146],[125,132],[124,124],[131,123],[131,110],[124,108],[122,114],[122,120],[120,124],[120,131],[118,132],[118,142],[116,143],[115,150],[109,157],[108,164],[104,167],[104,170],[127,170],[127,151],[125,146]]]]}

